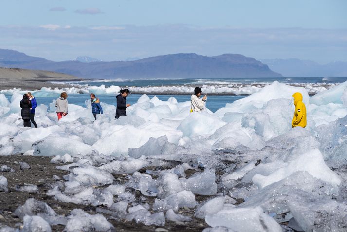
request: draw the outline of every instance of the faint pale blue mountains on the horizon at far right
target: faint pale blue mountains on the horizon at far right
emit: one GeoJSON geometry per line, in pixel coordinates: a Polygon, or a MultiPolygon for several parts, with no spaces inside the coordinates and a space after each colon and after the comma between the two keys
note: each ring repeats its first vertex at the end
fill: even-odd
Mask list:
{"type": "Polygon", "coordinates": [[[262,59],[274,72],[285,77],[347,77],[347,62],[318,64],[301,59],[262,59]]]}

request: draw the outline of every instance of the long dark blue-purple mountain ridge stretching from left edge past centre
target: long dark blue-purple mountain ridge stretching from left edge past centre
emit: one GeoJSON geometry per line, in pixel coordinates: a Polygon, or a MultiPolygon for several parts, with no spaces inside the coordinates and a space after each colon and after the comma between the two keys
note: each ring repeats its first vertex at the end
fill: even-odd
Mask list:
{"type": "Polygon", "coordinates": [[[207,57],[194,53],[156,56],[134,61],[54,62],[0,49],[0,67],[49,70],[82,78],[247,78],[282,77],[260,61],[239,54],[207,57]]]}

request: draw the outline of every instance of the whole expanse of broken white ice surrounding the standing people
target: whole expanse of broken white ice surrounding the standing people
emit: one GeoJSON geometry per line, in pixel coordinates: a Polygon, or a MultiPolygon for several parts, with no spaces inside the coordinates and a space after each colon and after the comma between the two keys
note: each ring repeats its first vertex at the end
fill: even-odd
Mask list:
{"type": "MultiPolygon", "coordinates": [[[[274,81],[215,113],[142,95],[118,120],[115,106],[101,102],[104,114],[94,122],[89,100],[69,104],[59,122],[52,102],[38,105],[37,129],[23,127],[21,99],[16,90],[10,100],[0,94],[0,155],[52,156],[70,174],[47,195],[100,206],[98,214],[74,209],[64,216],[28,199],[15,212],[27,231],[56,224],[110,231],[108,215],[165,227],[192,220],[181,208],[206,221],[204,232],[347,230],[347,81],[313,97],[274,81]],[[295,92],[307,108],[306,128],[291,127],[295,92]],[[116,174],[128,174],[127,182],[116,174]],[[198,202],[201,195],[207,200],[198,202]]],[[[0,191],[8,191],[1,172],[0,191]]]]}

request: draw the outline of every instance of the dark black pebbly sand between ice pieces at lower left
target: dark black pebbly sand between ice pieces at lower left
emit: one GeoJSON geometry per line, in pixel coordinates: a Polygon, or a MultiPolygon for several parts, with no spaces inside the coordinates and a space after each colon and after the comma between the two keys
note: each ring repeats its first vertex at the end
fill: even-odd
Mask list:
{"type": "MultiPolygon", "coordinates": [[[[25,201],[29,198],[35,198],[37,200],[47,203],[57,214],[69,215],[70,211],[79,208],[86,211],[89,214],[95,214],[97,208],[90,205],[78,205],[74,203],[59,202],[54,199],[53,196],[46,195],[47,191],[51,189],[51,185],[55,183],[53,175],[57,175],[60,178],[63,175],[69,174],[67,171],[56,169],[57,164],[50,163],[52,157],[46,156],[23,156],[23,155],[10,155],[10,156],[0,156],[0,165],[7,165],[15,170],[15,172],[0,172],[7,178],[8,181],[8,193],[0,192],[0,228],[1,225],[7,225],[10,227],[19,228],[22,225],[22,220],[14,215],[14,211],[18,206],[23,205],[25,201]],[[30,169],[20,169],[19,163],[26,162],[31,168],[30,169]],[[37,185],[38,193],[27,193],[19,192],[15,190],[16,185],[34,184],[37,185]],[[1,217],[3,216],[3,218],[1,217]],[[17,225],[16,225],[17,224],[17,225]]],[[[59,165],[59,164],[58,164],[59,165]]],[[[140,172],[145,172],[145,170],[140,170],[140,172]]],[[[187,173],[188,174],[188,173],[187,173]]],[[[189,174],[188,174],[189,175],[189,174]]],[[[126,174],[114,175],[117,182],[124,183],[127,180],[126,174]]],[[[136,194],[136,202],[149,203],[152,205],[154,202],[154,197],[143,196],[140,192],[133,189],[127,189],[136,194]],[[132,190],[132,191],[131,191],[132,190]],[[141,198],[141,199],[140,199],[141,198]]],[[[211,198],[211,196],[196,196],[196,200],[201,203],[211,198]]],[[[129,204],[128,207],[131,207],[129,204]]],[[[106,207],[104,209],[107,209],[106,207]]],[[[208,227],[204,220],[197,219],[194,217],[194,209],[181,208],[179,210],[180,214],[185,216],[190,216],[193,220],[190,222],[175,223],[166,220],[165,226],[145,226],[141,223],[136,223],[134,221],[126,220],[114,220],[111,219],[109,214],[103,213],[106,219],[114,226],[116,231],[155,231],[157,228],[164,228],[168,231],[192,231],[201,232],[204,228],[208,227]]],[[[153,213],[153,212],[152,212],[153,213]]],[[[52,231],[62,231],[65,226],[57,225],[52,226],[52,231]]]]}

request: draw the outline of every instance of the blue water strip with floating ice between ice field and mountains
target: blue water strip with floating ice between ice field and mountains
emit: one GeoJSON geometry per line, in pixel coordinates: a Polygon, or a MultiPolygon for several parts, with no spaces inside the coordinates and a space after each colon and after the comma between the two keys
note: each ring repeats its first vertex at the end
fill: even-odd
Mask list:
{"type": "MultiPolygon", "coordinates": [[[[264,86],[274,81],[288,85],[301,86],[307,89],[310,95],[332,88],[347,80],[347,77],[300,77],[300,78],[233,78],[233,79],[141,79],[141,80],[84,80],[64,82],[72,84],[71,88],[41,89],[31,91],[37,99],[37,104],[49,105],[59,97],[62,91],[69,94],[69,103],[85,107],[86,100],[90,99],[90,93],[95,93],[101,102],[116,104],[115,96],[119,90],[129,88],[131,93],[127,97],[127,103],[134,104],[142,94],[150,98],[157,96],[160,100],[167,101],[169,97],[175,97],[178,102],[190,100],[195,86],[200,86],[203,93],[208,93],[206,106],[212,112],[227,103],[246,97],[261,90],[264,86]]],[[[23,93],[25,91],[23,90],[23,93]]],[[[2,91],[10,99],[13,91],[2,91]]],[[[89,103],[89,102],[88,102],[89,103]]]]}

